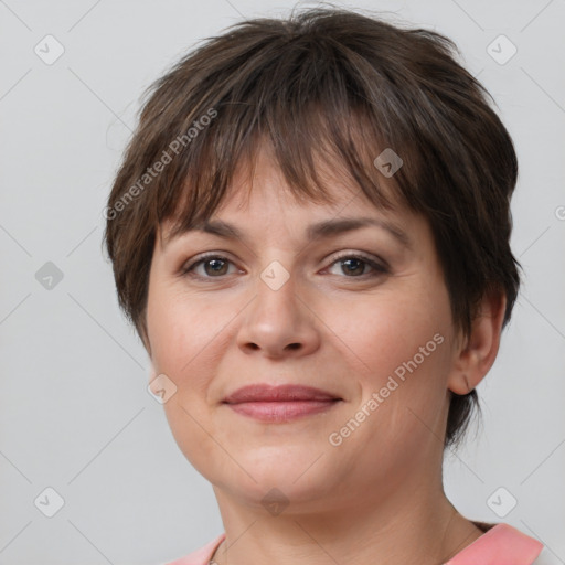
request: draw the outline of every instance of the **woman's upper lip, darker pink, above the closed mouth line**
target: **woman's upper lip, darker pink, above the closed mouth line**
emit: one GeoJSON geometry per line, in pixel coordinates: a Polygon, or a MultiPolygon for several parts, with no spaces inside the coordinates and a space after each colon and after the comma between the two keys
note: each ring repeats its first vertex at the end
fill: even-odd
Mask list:
{"type": "Polygon", "coordinates": [[[330,402],[341,398],[332,393],[315,388],[312,386],[302,386],[295,384],[285,384],[271,386],[267,384],[252,384],[238,388],[226,396],[225,404],[243,403],[276,403],[276,402],[330,402]]]}

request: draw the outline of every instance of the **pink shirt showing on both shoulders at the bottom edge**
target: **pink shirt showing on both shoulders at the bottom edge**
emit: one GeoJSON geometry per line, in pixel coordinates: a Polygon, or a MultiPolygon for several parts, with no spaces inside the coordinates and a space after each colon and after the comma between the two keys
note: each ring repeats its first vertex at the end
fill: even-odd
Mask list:
{"type": "MultiPolygon", "coordinates": [[[[163,565],[207,565],[225,532],[185,557],[163,565]]],[[[509,524],[497,524],[445,565],[532,565],[543,544],[509,524]]]]}

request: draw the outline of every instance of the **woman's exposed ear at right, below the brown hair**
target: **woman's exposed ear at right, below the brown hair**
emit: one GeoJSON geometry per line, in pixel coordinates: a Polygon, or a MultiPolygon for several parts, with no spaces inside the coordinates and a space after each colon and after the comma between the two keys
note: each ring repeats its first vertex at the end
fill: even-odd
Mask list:
{"type": "Polygon", "coordinates": [[[448,379],[451,392],[459,395],[470,393],[489,372],[499,352],[505,308],[504,292],[488,292],[482,298],[469,338],[455,352],[448,379]]]}

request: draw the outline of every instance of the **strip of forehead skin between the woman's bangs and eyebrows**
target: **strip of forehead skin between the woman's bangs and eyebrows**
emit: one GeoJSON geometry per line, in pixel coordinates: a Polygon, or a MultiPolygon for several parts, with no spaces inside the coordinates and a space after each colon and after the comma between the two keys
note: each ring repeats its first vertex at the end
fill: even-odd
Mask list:
{"type": "Polygon", "coordinates": [[[268,146],[264,146],[253,161],[237,167],[226,193],[207,217],[189,221],[178,215],[163,221],[160,226],[163,242],[167,244],[192,230],[242,238],[241,230],[253,224],[274,228],[281,223],[295,231],[307,226],[307,238],[313,238],[373,223],[408,243],[403,237],[402,225],[409,222],[411,212],[398,202],[388,183],[379,183],[380,192],[392,203],[384,207],[372,202],[338,164],[330,168],[317,163],[316,175],[312,184],[323,191],[307,194],[290,186],[268,146]]]}

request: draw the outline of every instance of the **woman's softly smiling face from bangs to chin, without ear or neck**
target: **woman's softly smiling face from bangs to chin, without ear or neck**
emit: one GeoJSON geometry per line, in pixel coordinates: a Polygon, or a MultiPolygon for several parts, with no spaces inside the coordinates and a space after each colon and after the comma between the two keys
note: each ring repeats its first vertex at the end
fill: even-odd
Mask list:
{"type": "Polygon", "coordinates": [[[167,244],[160,234],[154,247],[152,377],[177,387],[164,409],[179,447],[246,504],[274,488],[302,509],[374,503],[395,484],[433,481],[455,342],[427,222],[377,210],[339,182],[338,204],[298,203],[270,163],[258,160],[248,201],[234,183],[244,190],[211,218],[242,239],[190,231],[167,244]],[[360,218],[375,224],[309,235],[322,222],[360,218]],[[213,257],[182,274],[204,253],[213,257]],[[250,384],[312,386],[339,399],[295,403],[310,411],[287,418],[282,404],[262,404],[278,419],[260,419],[243,412],[259,412],[257,403],[224,402],[250,384]]]}

